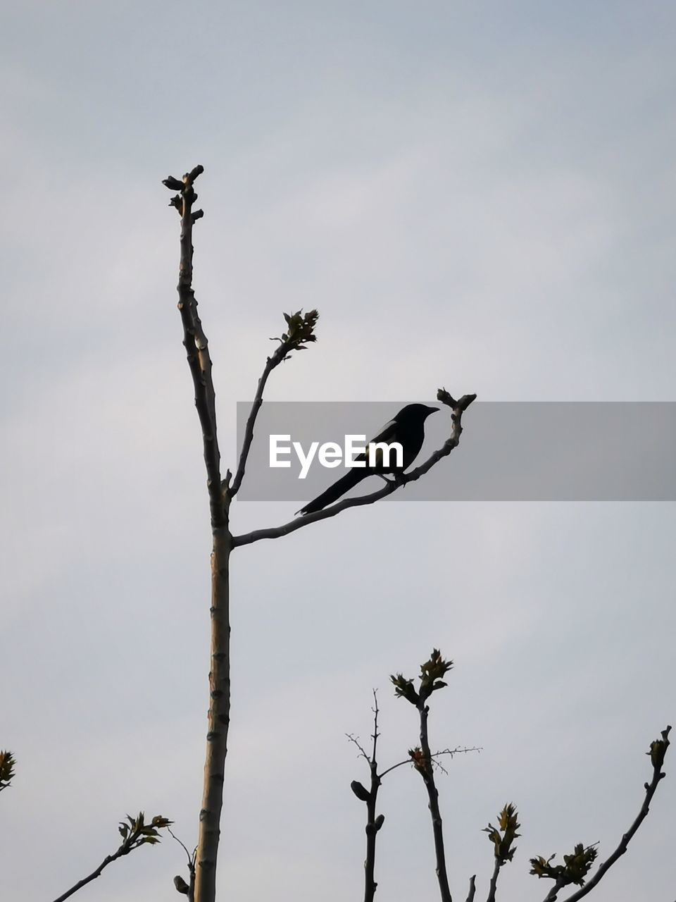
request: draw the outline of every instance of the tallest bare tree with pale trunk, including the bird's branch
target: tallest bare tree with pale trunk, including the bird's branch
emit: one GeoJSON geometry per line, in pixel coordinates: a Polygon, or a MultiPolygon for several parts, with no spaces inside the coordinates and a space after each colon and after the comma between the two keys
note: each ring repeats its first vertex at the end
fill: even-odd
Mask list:
{"type": "MultiPolygon", "coordinates": [[[[178,269],[178,309],[183,323],[183,344],[186,348],[187,364],[195,389],[195,404],[200,427],[206,465],[206,485],[209,496],[213,547],[211,555],[211,657],[209,670],[209,712],[206,732],[206,760],[204,788],[199,814],[199,836],[196,852],[196,875],[194,891],[188,888],[188,895],[196,902],[215,902],[216,859],[220,836],[221,811],[223,807],[223,787],[225,757],[227,754],[228,727],[230,723],[230,594],[229,566],[234,548],[250,545],[262,538],[279,538],[297,529],[310,526],[342,511],[364,504],[373,504],[386,498],[397,489],[419,479],[444,456],[458,446],[461,437],[462,413],[476,395],[464,395],[455,400],[445,390],[440,389],[437,397],[451,410],[451,435],[443,446],[434,452],[424,464],[408,474],[392,479],[377,492],[358,498],[346,498],[322,511],[315,511],[305,517],[290,520],[281,526],[256,529],[245,535],[234,535],[230,529],[229,511],[233,497],[239,491],[245,477],[247,458],[253,440],[256,417],[263,400],[263,391],[270,373],[297,351],[304,350],[315,342],[315,326],[318,318],[316,310],[306,314],[298,311],[285,314],[286,331],[279,338],[279,345],[271,354],[260,376],[255,400],[246,425],[242,451],[234,478],[227,470],[222,478],[221,457],[218,448],[216,428],[215,389],[212,378],[212,362],[208,341],[199,316],[193,283],[193,226],[203,216],[201,209],[194,209],[196,191],[194,183],[204,171],[202,166],[187,172],[182,179],[173,176],[164,179],[163,184],[177,192],[170,200],[181,217],[180,263],[178,269]]],[[[185,882],[185,881],[184,881],[185,882]]]]}

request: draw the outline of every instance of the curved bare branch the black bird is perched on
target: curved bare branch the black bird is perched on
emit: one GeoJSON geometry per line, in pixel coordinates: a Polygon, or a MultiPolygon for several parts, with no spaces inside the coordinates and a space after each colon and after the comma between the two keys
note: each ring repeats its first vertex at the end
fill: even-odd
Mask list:
{"type": "Polygon", "coordinates": [[[416,482],[416,479],[420,479],[421,476],[424,476],[435,464],[438,464],[443,457],[450,455],[453,448],[460,444],[462,413],[467,410],[476,397],[475,394],[470,394],[463,395],[460,400],[455,400],[445,389],[440,389],[437,392],[438,400],[441,400],[443,404],[452,409],[451,435],[443,443],[443,446],[434,451],[434,453],[427,458],[425,463],[417,466],[415,470],[412,470],[410,473],[401,474],[397,479],[388,481],[378,492],[360,495],[358,498],[343,499],[342,502],[332,504],[330,507],[324,508],[323,511],[315,511],[315,513],[307,514],[305,517],[297,517],[296,520],[289,520],[288,523],[284,523],[282,526],[269,527],[269,529],[254,529],[252,532],[244,533],[242,536],[233,536],[233,548],[239,548],[242,545],[251,545],[253,542],[260,541],[261,538],[281,538],[282,536],[288,536],[290,532],[295,532],[297,529],[302,529],[304,526],[310,526],[310,524],[316,523],[319,520],[328,520],[330,517],[335,517],[337,514],[347,511],[349,508],[361,507],[364,504],[378,502],[381,498],[387,498],[392,492],[396,492],[402,485],[416,482]]]}

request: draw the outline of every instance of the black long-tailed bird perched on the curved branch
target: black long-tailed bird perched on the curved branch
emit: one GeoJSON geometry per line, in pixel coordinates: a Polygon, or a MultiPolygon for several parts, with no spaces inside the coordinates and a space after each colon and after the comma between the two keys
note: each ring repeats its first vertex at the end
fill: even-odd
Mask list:
{"type": "MultiPolygon", "coordinates": [[[[402,449],[402,466],[397,467],[396,456],[394,452],[390,455],[388,465],[382,464],[382,456],[380,455],[380,465],[369,466],[366,460],[366,454],[362,454],[355,458],[358,461],[365,461],[367,466],[351,467],[351,469],[342,476],[337,482],[330,485],[325,492],[317,495],[314,501],[308,502],[305,507],[297,511],[301,516],[306,516],[315,511],[321,511],[329,504],[338,501],[338,499],[349,492],[357,483],[361,483],[362,479],[366,479],[373,474],[401,474],[410,466],[425,440],[425,419],[430,414],[439,410],[438,407],[427,407],[425,404],[407,404],[399,412],[389,420],[388,423],[379,431],[375,438],[371,438],[369,444],[375,442],[386,442],[391,445],[398,442],[402,449]]],[[[379,455],[376,454],[376,461],[379,455]]]]}

